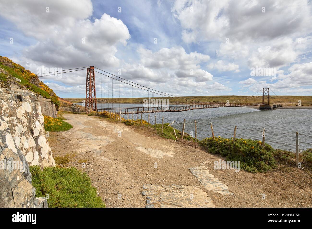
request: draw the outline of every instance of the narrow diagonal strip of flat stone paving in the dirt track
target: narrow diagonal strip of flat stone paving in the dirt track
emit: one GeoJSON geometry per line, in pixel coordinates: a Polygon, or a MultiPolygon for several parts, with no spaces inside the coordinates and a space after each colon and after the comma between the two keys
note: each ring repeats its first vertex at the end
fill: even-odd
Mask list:
{"type": "Polygon", "coordinates": [[[215,178],[214,175],[209,173],[209,170],[204,165],[204,163],[202,163],[200,166],[189,168],[189,170],[208,191],[217,192],[222,195],[234,194],[229,192],[229,188],[218,178],[215,178]]]}

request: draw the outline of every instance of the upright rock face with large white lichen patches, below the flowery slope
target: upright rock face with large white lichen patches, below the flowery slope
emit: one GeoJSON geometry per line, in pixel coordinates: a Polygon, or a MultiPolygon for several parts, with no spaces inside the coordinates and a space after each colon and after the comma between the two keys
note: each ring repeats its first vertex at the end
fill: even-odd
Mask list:
{"type": "Polygon", "coordinates": [[[41,106],[36,98],[36,94],[29,90],[0,87],[0,116],[28,164],[41,168],[55,166],[46,139],[41,106]]]}

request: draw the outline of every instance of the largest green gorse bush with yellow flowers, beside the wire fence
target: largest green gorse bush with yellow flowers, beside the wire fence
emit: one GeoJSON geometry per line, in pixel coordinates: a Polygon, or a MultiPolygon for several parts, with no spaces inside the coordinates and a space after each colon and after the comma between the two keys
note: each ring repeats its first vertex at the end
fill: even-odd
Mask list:
{"type": "Polygon", "coordinates": [[[274,149],[265,144],[262,146],[261,141],[251,139],[227,139],[216,137],[215,140],[205,138],[199,141],[199,144],[208,149],[213,154],[221,154],[229,161],[240,161],[241,169],[248,172],[266,172],[275,168],[273,157],[274,149]]]}

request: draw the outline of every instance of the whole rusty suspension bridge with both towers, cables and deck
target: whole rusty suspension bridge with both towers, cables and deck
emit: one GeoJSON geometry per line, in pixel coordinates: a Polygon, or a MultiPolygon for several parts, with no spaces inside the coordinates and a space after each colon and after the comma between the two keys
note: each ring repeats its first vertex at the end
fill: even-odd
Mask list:
{"type": "MultiPolygon", "coordinates": [[[[101,101],[103,99],[101,98],[101,101]]],[[[107,101],[104,101],[105,103],[107,101]]],[[[158,104],[158,103],[156,103],[158,104]]],[[[85,92],[85,110],[87,113],[91,111],[107,111],[118,114],[143,114],[143,113],[155,113],[155,112],[182,112],[182,111],[190,111],[196,109],[207,109],[207,108],[216,108],[216,107],[250,107],[250,106],[259,106],[260,110],[271,110],[273,108],[277,108],[277,105],[270,104],[270,88],[262,88],[262,90],[257,93],[246,96],[246,98],[230,102],[199,102],[192,101],[189,98],[183,98],[174,96],[168,93],[160,92],[155,89],[151,89],[140,85],[138,83],[131,82],[129,80],[123,79],[120,76],[116,76],[114,74],[110,74],[104,70],[98,69],[94,66],[90,66],[87,68],[87,76],[86,76],[86,92],[85,92]],[[101,71],[98,72],[95,69],[101,71]],[[120,98],[125,99],[126,106],[122,107],[121,103],[119,103],[119,107],[112,105],[112,107],[106,108],[97,108],[97,99],[95,92],[95,72],[101,74],[101,97],[102,97],[102,77],[104,77],[104,93],[105,98],[111,98],[113,102],[114,100],[120,98]],[[133,91],[134,90],[134,91],[133,91]],[[145,92],[145,97],[144,97],[145,92]],[[115,96],[114,96],[115,93],[115,96]],[[118,93],[116,97],[116,93],[118,93]],[[106,97],[107,94],[107,97],[106,97]],[[128,96],[131,94],[131,97],[128,96]],[[139,97],[140,95],[140,97],[139,97]],[[142,95],[142,96],[141,96],[142,95]],[[147,95],[147,96],[146,96],[147,95]],[[110,97],[111,96],[111,97],[110,97]],[[153,105],[149,104],[145,106],[142,101],[144,98],[154,98],[156,101],[164,101],[164,99],[170,98],[171,104],[163,104],[162,105],[153,105]],[[141,99],[142,101],[139,101],[141,99]],[[183,100],[184,105],[178,101],[183,100]],[[133,100],[136,100],[133,101],[133,100]],[[131,106],[129,105],[131,104],[131,106]]]]}

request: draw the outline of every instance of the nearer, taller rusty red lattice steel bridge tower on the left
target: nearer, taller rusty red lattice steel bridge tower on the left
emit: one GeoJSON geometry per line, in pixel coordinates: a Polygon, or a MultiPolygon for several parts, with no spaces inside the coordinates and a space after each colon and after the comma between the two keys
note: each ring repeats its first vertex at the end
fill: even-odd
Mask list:
{"type": "Polygon", "coordinates": [[[87,68],[87,82],[85,86],[85,110],[96,111],[95,76],[94,66],[87,68]]]}

